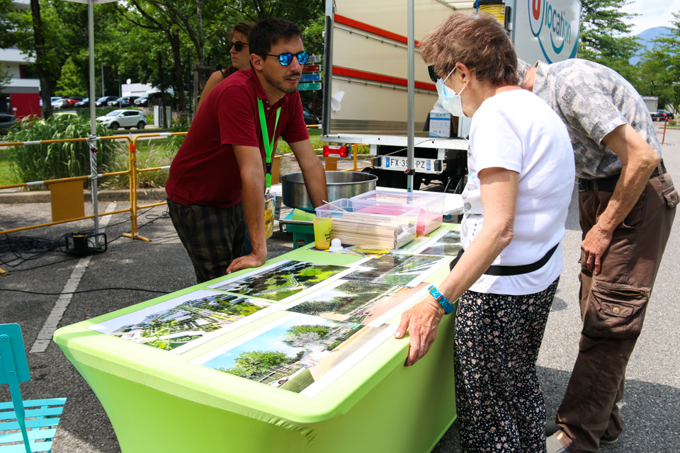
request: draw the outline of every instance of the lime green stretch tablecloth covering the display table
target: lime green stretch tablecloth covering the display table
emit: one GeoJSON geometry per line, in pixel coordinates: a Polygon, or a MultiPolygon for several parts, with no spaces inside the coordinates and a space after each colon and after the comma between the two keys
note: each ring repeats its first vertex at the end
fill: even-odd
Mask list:
{"type": "MultiPolygon", "coordinates": [[[[348,265],[358,258],[300,248],[267,264],[283,259],[348,265]]],[[[447,273],[443,266],[426,282],[441,282],[447,273]]],[[[414,367],[403,366],[408,337],[388,338],[314,397],[190,363],[272,316],[181,355],[88,329],[214,282],[55,333],[55,343],[101,401],[123,453],[428,452],[455,420],[452,316],[443,320],[433,348],[414,367]]],[[[399,316],[389,323],[399,323],[399,316]]]]}

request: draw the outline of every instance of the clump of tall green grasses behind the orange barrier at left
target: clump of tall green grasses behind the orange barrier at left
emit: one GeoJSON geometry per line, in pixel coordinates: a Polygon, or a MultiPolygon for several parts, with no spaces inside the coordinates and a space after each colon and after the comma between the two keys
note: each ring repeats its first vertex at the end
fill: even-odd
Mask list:
{"type": "MultiPolygon", "coordinates": [[[[5,137],[8,142],[31,142],[52,139],[84,138],[90,134],[89,119],[63,115],[40,120],[26,117],[20,121],[21,129],[5,137]]],[[[108,130],[97,125],[97,135],[108,135],[108,130]]],[[[121,145],[113,141],[98,142],[97,167],[101,172],[115,157],[121,145]]],[[[90,156],[86,142],[32,144],[11,147],[10,171],[17,183],[86,176],[90,173],[90,156]]],[[[85,181],[86,183],[86,181],[85,181]]],[[[41,190],[32,186],[29,190],[41,190]]]]}

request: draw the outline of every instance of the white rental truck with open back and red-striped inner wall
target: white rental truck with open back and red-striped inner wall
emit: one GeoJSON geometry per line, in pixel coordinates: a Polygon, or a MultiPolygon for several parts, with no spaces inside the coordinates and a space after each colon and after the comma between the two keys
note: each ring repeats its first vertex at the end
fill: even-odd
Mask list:
{"type": "MultiPolygon", "coordinates": [[[[475,11],[476,3],[414,0],[414,5],[414,189],[438,180],[445,190],[458,188],[460,193],[467,173],[467,155],[461,151],[467,149],[470,119],[452,118],[455,138],[429,137],[424,130],[438,96],[418,41],[451,13],[475,11]]],[[[480,9],[485,8],[497,12],[526,62],[576,57],[580,0],[480,0],[480,9]]],[[[325,21],[322,140],[370,145],[371,154],[385,156],[370,169],[379,184],[406,188],[407,1],[327,0],[325,21]],[[341,101],[331,108],[331,98],[341,101]]]]}

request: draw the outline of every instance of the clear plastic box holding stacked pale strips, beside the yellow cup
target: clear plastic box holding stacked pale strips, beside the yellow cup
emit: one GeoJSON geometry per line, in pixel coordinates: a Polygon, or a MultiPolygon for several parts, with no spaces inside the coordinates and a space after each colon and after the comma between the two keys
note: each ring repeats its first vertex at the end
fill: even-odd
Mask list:
{"type": "Polygon", "coordinates": [[[316,209],[317,217],[331,217],[331,239],[348,246],[400,248],[416,238],[419,207],[376,206],[341,198],[316,209]]]}

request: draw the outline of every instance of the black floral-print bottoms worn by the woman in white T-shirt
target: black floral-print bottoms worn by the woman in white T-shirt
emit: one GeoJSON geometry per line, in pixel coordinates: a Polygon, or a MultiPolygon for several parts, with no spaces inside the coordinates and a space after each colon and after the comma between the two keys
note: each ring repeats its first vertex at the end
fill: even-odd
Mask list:
{"type": "Polygon", "coordinates": [[[545,452],[536,360],[559,281],[525,296],[460,297],[454,360],[463,452],[545,452]]]}

